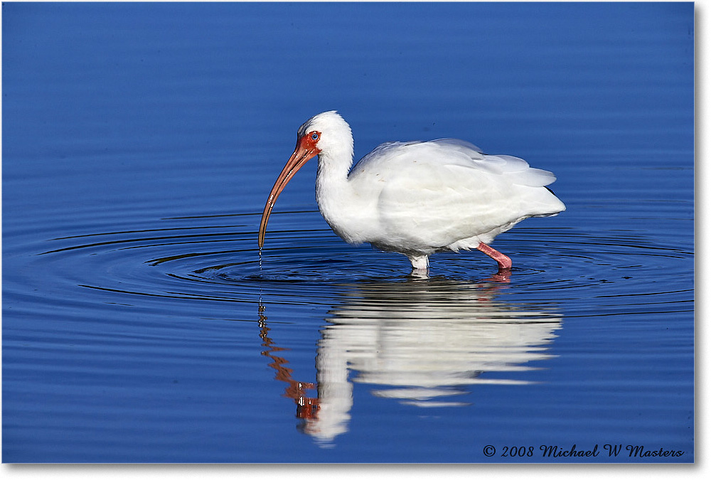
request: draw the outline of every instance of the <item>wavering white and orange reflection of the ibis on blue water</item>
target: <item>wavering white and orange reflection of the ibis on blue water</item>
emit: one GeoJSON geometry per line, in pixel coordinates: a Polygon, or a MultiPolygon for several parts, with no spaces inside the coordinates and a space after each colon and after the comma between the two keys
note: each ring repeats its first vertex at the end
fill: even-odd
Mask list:
{"type": "Polygon", "coordinates": [[[315,384],[292,378],[260,307],[262,354],[287,383],[284,396],[296,403],[301,428],[321,444],[348,431],[354,383],[417,407],[469,405],[473,385],[528,383],[511,372],[550,358],[546,351],[561,327],[552,306],[497,299],[506,280],[347,285],[321,332],[315,384]]]}

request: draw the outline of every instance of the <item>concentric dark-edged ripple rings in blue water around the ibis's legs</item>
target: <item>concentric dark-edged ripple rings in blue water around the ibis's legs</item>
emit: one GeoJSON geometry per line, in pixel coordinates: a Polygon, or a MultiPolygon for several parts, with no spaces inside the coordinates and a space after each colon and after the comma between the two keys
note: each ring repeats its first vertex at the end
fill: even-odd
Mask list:
{"type": "MultiPolygon", "coordinates": [[[[288,215],[294,226],[314,224],[318,213],[281,215],[288,215]]],[[[55,277],[54,294],[62,298],[74,297],[71,289],[81,287],[111,292],[117,302],[130,302],[131,297],[259,302],[264,297],[266,302],[330,306],[338,302],[334,285],[417,281],[402,255],[351,247],[326,228],[270,231],[259,252],[258,220],[257,213],[164,218],[25,247],[36,272],[55,277]]],[[[608,299],[610,306],[643,311],[673,302],[669,299],[689,290],[675,285],[675,277],[684,273],[693,252],[633,231],[518,228],[502,235],[496,245],[514,260],[503,282],[506,293],[525,300],[561,302],[592,294],[608,299]],[[670,265],[679,270],[670,270],[670,265]],[[657,282],[661,275],[663,284],[657,282]]],[[[438,278],[502,283],[491,260],[476,251],[434,255],[429,280],[419,280],[431,283],[438,278]]],[[[25,281],[31,282],[31,275],[25,281]]],[[[581,315],[598,309],[592,302],[576,306],[575,314],[581,315]]]]}

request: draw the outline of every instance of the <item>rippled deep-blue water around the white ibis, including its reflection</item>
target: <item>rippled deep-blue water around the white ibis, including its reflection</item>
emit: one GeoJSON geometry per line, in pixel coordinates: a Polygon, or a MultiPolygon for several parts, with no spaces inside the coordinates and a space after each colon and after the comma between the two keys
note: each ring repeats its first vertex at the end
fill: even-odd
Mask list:
{"type": "Polygon", "coordinates": [[[3,462],[694,461],[693,4],[6,3],[2,41],[3,462]],[[312,161],[260,260],[333,109],[567,211],[415,278],[312,161]]]}

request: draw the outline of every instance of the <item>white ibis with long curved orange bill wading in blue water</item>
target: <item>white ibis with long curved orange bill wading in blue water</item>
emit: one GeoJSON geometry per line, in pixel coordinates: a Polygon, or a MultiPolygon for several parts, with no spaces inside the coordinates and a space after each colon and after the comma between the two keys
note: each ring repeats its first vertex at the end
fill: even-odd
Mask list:
{"type": "Polygon", "coordinates": [[[264,206],[260,249],[279,193],[317,155],[316,202],[333,231],[351,244],[402,253],[414,270],[426,270],[434,252],[471,248],[508,270],[510,258],[488,245],[493,238],[525,218],[565,210],[546,187],[555,181],[550,171],[515,156],[483,154],[462,140],[388,142],[351,168],[351,127],[333,110],[299,128],[264,206]]]}

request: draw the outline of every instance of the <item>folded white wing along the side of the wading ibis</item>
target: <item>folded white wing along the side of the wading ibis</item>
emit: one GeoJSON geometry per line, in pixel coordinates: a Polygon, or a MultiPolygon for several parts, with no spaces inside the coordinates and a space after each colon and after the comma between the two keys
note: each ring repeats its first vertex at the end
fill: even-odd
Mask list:
{"type": "Polygon", "coordinates": [[[556,206],[560,203],[538,188],[555,180],[550,172],[531,169],[517,157],[484,155],[463,143],[390,146],[389,158],[371,159],[381,164],[378,215],[387,238],[423,249],[477,235],[488,241],[488,233],[552,213],[551,197],[556,206]]]}

